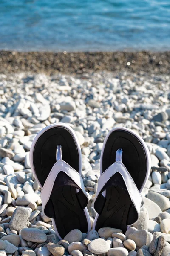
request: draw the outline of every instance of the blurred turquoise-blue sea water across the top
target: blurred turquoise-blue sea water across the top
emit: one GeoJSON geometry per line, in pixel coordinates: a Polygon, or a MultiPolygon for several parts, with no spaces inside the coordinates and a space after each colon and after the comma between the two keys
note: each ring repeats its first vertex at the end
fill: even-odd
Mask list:
{"type": "Polygon", "coordinates": [[[170,50],[170,0],[0,0],[0,49],[170,50]]]}

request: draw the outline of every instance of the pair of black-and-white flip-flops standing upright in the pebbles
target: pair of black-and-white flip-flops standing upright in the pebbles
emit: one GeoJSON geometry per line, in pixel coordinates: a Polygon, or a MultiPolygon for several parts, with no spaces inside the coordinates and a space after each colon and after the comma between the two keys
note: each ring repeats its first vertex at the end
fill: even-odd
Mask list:
{"type": "MultiPolygon", "coordinates": [[[[88,233],[88,196],[73,129],[63,123],[42,129],[31,145],[30,164],[42,189],[43,211],[52,219],[59,239],[73,229],[88,233]]],[[[139,218],[140,192],[150,173],[150,154],[142,138],[127,128],[111,130],[102,148],[100,171],[93,229],[115,227],[125,232],[139,218]]]]}

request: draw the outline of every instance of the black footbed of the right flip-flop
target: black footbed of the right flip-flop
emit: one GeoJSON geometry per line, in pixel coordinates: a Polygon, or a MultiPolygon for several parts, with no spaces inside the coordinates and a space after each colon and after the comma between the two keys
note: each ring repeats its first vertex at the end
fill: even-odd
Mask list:
{"type": "MultiPolygon", "coordinates": [[[[123,150],[122,163],[140,190],[147,174],[146,153],[138,138],[128,131],[119,129],[109,135],[102,157],[102,172],[115,162],[116,151],[119,148],[123,150]]],[[[127,225],[133,224],[138,218],[125,182],[119,173],[114,174],[105,184],[94,207],[99,213],[96,230],[101,227],[114,227],[125,232],[127,225]],[[104,190],[105,198],[102,195],[104,190]]]]}

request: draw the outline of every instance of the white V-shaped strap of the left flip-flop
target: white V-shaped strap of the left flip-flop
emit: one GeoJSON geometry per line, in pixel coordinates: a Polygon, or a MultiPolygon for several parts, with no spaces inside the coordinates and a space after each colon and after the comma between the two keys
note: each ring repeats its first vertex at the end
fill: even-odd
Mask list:
{"type": "MultiPolygon", "coordinates": [[[[59,153],[59,152],[58,152],[59,153]]],[[[88,198],[85,187],[83,184],[83,179],[79,175],[79,173],[74,170],[71,166],[69,166],[65,161],[58,160],[54,166],[52,167],[44,186],[41,190],[41,199],[42,199],[42,209],[45,209],[45,205],[47,204],[48,200],[50,199],[51,191],[54,186],[54,182],[56,180],[57,175],[59,172],[65,172],[71,179],[74,181],[74,183],[77,184],[80,190],[82,190],[83,194],[88,198]]]]}

